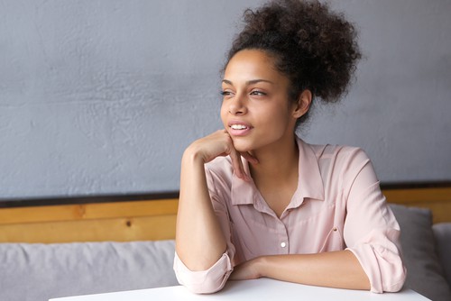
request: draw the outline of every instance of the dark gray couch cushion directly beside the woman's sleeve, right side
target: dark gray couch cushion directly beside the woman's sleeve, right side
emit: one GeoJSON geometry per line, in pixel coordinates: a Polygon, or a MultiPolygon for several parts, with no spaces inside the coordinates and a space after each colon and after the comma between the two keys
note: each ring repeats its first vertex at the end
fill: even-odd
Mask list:
{"type": "Polygon", "coordinates": [[[434,301],[451,300],[451,289],[437,257],[431,212],[403,205],[391,205],[391,209],[400,223],[406,287],[434,301]]]}

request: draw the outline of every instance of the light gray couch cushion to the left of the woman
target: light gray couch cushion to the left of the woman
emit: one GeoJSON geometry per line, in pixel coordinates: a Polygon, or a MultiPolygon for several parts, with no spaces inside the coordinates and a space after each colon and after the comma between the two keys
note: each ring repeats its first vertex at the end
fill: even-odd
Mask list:
{"type": "Polygon", "coordinates": [[[0,243],[0,300],[177,285],[174,242],[0,243]]]}

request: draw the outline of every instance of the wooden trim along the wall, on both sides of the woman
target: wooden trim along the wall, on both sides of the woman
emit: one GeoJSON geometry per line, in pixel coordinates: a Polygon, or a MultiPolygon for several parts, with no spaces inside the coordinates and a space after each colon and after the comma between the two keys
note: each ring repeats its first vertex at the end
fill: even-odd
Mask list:
{"type": "MultiPolygon", "coordinates": [[[[430,209],[434,223],[451,222],[451,185],[382,187],[382,192],[389,203],[430,209]]],[[[127,200],[126,196],[120,196],[111,202],[4,206],[0,208],[0,242],[174,239],[179,200],[178,193],[170,196],[177,197],[127,200]]],[[[83,202],[87,202],[87,199],[83,202]]]]}

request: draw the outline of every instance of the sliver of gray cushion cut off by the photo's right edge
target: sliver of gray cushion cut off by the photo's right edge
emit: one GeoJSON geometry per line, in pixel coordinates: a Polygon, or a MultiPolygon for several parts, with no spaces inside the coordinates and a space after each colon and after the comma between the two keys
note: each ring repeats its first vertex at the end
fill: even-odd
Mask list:
{"type": "Polygon", "coordinates": [[[436,223],[432,226],[436,237],[438,258],[440,259],[445,277],[451,287],[451,223],[436,223]]]}

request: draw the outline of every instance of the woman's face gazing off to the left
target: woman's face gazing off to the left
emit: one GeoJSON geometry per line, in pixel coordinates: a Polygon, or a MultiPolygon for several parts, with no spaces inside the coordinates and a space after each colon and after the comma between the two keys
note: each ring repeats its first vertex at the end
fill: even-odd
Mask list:
{"type": "Polygon", "coordinates": [[[262,50],[241,50],[227,64],[221,119],[238,151],[280,147],[293,141],[297,104],[289,101],[289,79],[262,50]]]}

